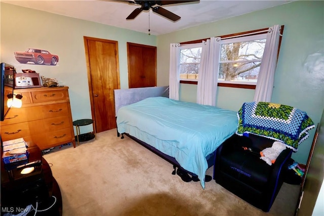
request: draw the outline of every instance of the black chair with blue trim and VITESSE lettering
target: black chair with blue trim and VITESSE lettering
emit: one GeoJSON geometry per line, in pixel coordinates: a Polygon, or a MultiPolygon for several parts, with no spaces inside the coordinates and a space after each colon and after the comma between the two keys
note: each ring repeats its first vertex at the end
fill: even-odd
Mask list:
{"type": "Polygon", "coordinates": [[[274,140],[234,134],[218,147],[215,154],[216,183],[257,208],[268,212],[284,182],[293,150],[286,148],[272,165],[260,159],[260,151],[274,140]]]}

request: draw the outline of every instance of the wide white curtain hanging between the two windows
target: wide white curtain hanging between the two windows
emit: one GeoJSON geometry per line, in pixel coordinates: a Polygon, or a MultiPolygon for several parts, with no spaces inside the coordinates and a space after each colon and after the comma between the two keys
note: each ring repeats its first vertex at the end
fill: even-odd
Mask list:
{"type": "Polygon", "coordinates": [[[197,85],[197,103],[216,106],[219,70],[220,37],[203,42],[197,85]]]}

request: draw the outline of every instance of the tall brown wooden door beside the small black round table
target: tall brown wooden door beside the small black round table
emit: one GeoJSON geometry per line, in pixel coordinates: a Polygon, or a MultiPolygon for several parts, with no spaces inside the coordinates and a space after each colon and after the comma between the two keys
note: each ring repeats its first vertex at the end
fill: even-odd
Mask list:
{"type": "Polygon", "coordinates": [[[116,128],[113,90],[119,89],[118,42],[84,37],[92,118],[96,132],[116,128]]]}

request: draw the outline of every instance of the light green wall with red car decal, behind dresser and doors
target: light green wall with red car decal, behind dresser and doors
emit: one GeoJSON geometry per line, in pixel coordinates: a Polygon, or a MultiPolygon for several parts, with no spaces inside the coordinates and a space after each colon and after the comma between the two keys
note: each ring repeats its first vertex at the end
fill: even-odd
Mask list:
{"type": "Polygon", "coordinates": [[[154,35],[1,3],[1,62],[14,65],[17,72],[32,69],[67,85],[73,120],[92,118],[84,36],[118,41],[121,89],[128,88],[127,42],[156,46],[154,35]],[[20,64],[14,52],[27,48],[57,54],[57,66],[20,64]]]}

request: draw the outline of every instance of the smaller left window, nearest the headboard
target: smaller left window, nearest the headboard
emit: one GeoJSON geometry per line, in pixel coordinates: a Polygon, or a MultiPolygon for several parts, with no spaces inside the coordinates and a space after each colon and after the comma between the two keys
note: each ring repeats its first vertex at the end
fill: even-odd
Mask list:
{"type": "Polygon", "coordinates": [[[180,80],[198,80],[201,43],[180,48],[180,80]]]}

